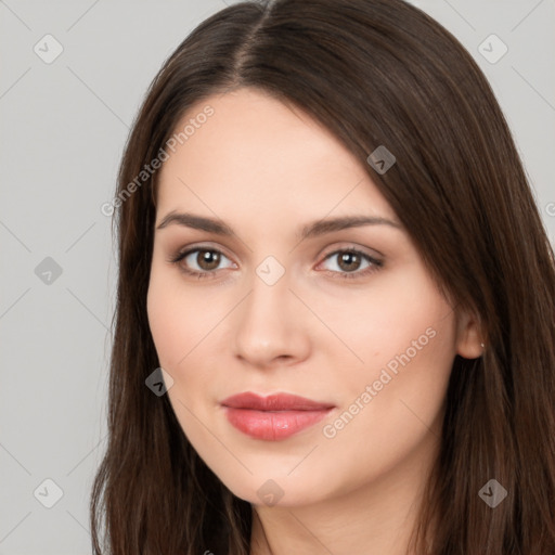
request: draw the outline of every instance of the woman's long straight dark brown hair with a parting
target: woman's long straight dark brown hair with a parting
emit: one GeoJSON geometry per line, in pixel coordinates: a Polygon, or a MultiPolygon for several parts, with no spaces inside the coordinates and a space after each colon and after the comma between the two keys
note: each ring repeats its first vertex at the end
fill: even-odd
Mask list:
{"type": "Polygon", "coordinates": [[[157,173],[135,180],[190,106],[237,87],[330,129],[444,294],[480,319],[483,357],[453,362],[417,553],[555,553],[553,249],[487,79],[450,33],[402,0],[237,3],[198,25],[153,80],[114,203],[119,276],[94,553],[248,554],[251,505],[198,457],[167,396],[145,387],[159,365],[146,315],[157,173]],[[397,160],[385,173],[366,163],[379,145],[397,160]],[[494,508],[479,495],[490,479],[507,491],[494,508]]]}

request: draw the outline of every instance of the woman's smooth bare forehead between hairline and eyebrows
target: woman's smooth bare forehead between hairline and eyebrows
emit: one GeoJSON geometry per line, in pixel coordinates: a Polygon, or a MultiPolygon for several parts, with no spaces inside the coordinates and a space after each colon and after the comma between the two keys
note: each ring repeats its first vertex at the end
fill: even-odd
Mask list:
{"type": "Polygon", "coordinates": [[[323,217],[336,207],[395,217],[367,169],[333,133],[264,92],[209,96],[191,106],[175,135],[185,126],[186,140],[167,151],[160,170],[159,211],[204,203],[204,211],[245,216],[271,209],[323,217]]]}

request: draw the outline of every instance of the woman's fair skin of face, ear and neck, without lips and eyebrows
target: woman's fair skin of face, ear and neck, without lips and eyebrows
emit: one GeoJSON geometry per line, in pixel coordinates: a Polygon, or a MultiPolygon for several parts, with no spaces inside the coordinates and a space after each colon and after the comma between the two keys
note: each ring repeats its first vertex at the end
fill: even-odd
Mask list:
{"type": "Polygon", "coordinates": [[[373,170],[325,128],[254,89],[202,101],[178,128],[206,105],[214,115],[160,170],[156,227],[172,210],[189,211],[219,218],[235,234],[156,230],[147,297],[179,423],[221,481],[253,504],[253,555],[405,554],[453,359],[481,354],[476,320],[439,293],[402,227],[299,242],[304,224],[326,217],[398,222],[373,170]],[[185,247],[223,256],[211,267],[204,253],[168,261],[185,247]],[[347,264],[341,253],[326,258],[352,247],[383,266],[363,275],[373,266],[364,257],[347,264]],[[271,286],[256,273],[268,256],[285,270],[271,286]],[[211,275],[198,280],[183,268],[211,275]],[[380,372],[426,330],[434,337],[376,391],[380,372]],[[364,403],[369,385],[376,395],[364,403]],[[336,408],[285,440],[263,441],[234,428],[219,404],[243,391],[289,392],[336,408]],[[358,414],[334,428],[356,399],[358,414]],[[326,425],[334,437],[324,435],[326,425]],[[273,506],[257,494],[269,479],[283,491],[273,506]]]}

